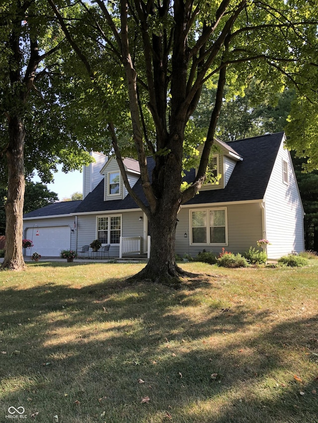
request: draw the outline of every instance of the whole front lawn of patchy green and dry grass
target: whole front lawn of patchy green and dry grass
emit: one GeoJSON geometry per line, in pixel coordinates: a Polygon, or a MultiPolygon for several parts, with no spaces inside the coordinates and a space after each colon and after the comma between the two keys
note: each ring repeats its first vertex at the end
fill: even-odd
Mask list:
{"type": "Polygon", "coordinates": [[[142,266],[0,273],[0,422],[318,422],[318,260],[186,263],[178,291],[128,286],[142,266]]]}

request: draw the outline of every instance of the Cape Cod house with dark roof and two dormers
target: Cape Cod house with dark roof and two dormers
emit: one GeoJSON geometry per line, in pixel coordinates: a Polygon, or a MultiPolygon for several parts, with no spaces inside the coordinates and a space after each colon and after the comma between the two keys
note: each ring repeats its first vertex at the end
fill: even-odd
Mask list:
{"type": "MultiPolygon", "coordinates": [[[[220,175],[178,214],[176,253],[197,255],[206,249],[234,253],[259,239],[269,240],[268,258],[304,249],[304,210],[283,132],[229,143],[216,140],[210,168],[220,175]]],[[[117,162],[91,153],[95,163],[83,170],[83,200],[57,202],[24,215],[23,238],[32,251],[59,256],[61,249],[80,250],[99,239],[110,244],[110,257],[149,251],[147,216],[127,193],[117,162]]],[[[124,159],[130,185],[144,200],[139,164],[124,159]]],[[[148,158],[149,171],[154,166],[148,158]]],[[[195,169],[185,176],[193,180],[195,169]]],[[[31,251],[26,250],[26,255],[31,251]]]]}

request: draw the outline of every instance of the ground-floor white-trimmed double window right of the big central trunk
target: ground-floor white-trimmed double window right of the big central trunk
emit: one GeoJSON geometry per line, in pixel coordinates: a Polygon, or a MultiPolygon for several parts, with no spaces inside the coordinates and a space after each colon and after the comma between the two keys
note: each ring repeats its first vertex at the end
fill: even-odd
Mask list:
{"type": "Polygon", "coordinates": [[[191,210],[192,244],[227,244],[227,209],[191,210]]]}

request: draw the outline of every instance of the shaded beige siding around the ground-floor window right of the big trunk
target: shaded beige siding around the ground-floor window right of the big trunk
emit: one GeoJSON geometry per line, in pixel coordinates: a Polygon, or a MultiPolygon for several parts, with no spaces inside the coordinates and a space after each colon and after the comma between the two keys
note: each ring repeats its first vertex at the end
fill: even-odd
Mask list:
{"type": "MultiPolygon", "coordinates": [[[[218,204],[216,208],[223,207],[218,204]]],[[[176,253],[183,255],[185,252],[196,256],[199,251],[206,249],[220,253],[222,247],[233,253],[243,252],[250,246],[257,248],[256,241],[262,237],[262,208],[260,202],[226,204],[228,221],[228,245],[200,244],[190,245],[190,209],[213,209],[213,204],[202,207],[183,207],[178,213],[178,225],[176,229],[176,253]],[[184,234],[187,238],[184,238],[184,234]]]]}

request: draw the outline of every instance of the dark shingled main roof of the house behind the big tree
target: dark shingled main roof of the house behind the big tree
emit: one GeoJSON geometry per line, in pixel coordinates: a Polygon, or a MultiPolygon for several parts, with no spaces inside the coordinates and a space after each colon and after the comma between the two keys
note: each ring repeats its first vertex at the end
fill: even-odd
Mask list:
{"type": "MultiPolygon", "coordinates": [[[[195,195],[187,204],[221,203],[231,201],[258,200],[265,195],[267,184],[277,157],[284,132],[257,136],[232,141],[228,150],[234,151],[244,159],[236,163],[231,178],[224,189],[203,190],[195,195]]],[[[154,159],[148,157],[148,168],[151,174],[154,159]]],[[[185,181],[193,181],[195,170],[186,173],[185,181]]],[[[141,179],[134,185],[134,191],[145,202],[141,179]]],[[[116,211],[138,208],[128,194],[122,200],[104,201],[104,180],[82,201],[67,201],[50,204],[41,209],[27,213],[24,217],[40,217],[67,213],[86,213],[98,211],[116,211]]]]}

